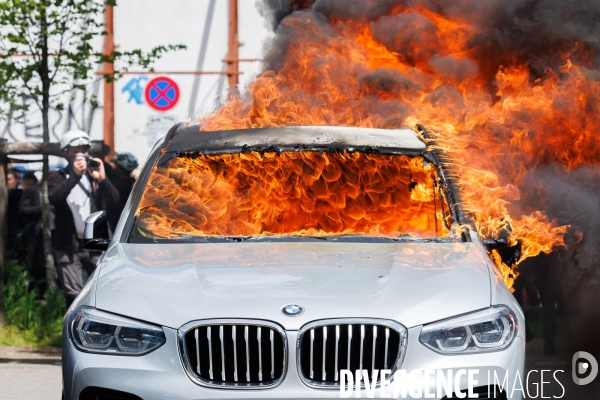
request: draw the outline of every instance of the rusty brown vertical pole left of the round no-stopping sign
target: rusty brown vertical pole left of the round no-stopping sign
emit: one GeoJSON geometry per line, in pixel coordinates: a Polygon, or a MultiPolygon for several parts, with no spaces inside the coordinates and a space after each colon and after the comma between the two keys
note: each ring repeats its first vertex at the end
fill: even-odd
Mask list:
{"type": "MultiPolygon", "coordinates": [[[[106,35],[104,36],[104,55],[111,57],[115,49],[114,29],[113,29],[113,6],[106,5],[104,12],[104,26],[106,35]]],[[[111,75],[115,71],[115,65],[112,62],[104,63],[104,72],[111,75]]],[[[110,79],[104,80],[104,143],[110,147],[110,156],[115,154],[115,83],[110,79]]]]}

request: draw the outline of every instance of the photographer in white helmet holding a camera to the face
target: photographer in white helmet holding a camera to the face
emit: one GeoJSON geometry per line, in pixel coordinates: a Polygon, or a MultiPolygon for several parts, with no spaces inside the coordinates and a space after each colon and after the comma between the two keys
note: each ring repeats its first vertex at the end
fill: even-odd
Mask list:
{"type": "Polygon", "coordinates": [[[83,289],[83,270],[91,275],[99,259],[99,253],[83,250],[85,220],[117,204],[119,192],[106,177],[102,160],[89,156],[86,132],[65,133],[60,147],[69,164],[48,176],[48,197],[56,215],[53,246],[58,280],[69,307],[83,289]]]}

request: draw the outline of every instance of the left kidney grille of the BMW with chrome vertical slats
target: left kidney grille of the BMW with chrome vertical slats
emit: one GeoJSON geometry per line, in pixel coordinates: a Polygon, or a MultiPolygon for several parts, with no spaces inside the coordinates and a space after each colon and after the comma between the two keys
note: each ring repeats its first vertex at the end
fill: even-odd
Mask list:
{"type": "Polygon", "coordinates": [[[220,388],[279,384],[287,368],[285,331],[267,321],[232,321],[200,321],[180,330],[180,352],[188,376],[199,385],[220,388]]]}

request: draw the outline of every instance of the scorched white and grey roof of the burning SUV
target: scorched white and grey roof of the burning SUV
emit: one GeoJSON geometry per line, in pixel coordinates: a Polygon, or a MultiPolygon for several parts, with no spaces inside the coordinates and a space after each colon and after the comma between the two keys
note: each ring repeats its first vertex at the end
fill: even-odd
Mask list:
{"type": "Polygon", "coordinates": [[[387,154],[421,154],[427,145],[409,128],[376,129],[343,126],[200,131],[198,125],[174,132],[166,151],[205,154],[245,151],[350,150],[387,154]]]}

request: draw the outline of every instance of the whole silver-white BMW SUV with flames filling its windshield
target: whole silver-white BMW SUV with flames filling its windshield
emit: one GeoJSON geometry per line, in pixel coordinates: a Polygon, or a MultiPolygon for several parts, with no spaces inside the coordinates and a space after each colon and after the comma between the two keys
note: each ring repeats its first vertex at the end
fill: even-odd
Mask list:
{"type": "Polygon", "coordinates": [[[88,218],[105,253],[65,316],[64,398],[337,398],[346,370],[363,397],[406,371],[506,398],[523,313],[424,135],[175,126],[113,238],[88,218]]]}

